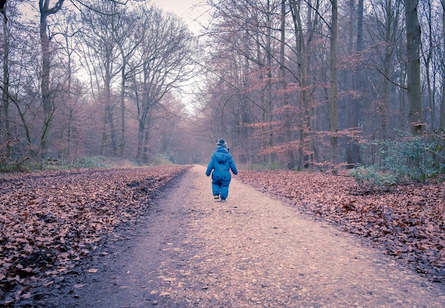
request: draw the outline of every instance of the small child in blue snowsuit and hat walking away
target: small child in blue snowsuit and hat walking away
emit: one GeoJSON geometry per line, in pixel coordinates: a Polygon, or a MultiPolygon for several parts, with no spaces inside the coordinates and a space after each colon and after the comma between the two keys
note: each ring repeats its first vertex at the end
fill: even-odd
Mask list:
{"type": "Polygon", "coordinates": [[[229,169],[232,170],[233,174],[238,174],[235,162],[227,148],[227,142],[220,139],[216,144],[216,152],[213,153],[212,159],[208,163],[205,175],[210,176],[210,172],[212,173],[213,197],[218,199],[221,196],[221,202],[225,202],[229,194],[229,184],[232,179],[229,169]]]}

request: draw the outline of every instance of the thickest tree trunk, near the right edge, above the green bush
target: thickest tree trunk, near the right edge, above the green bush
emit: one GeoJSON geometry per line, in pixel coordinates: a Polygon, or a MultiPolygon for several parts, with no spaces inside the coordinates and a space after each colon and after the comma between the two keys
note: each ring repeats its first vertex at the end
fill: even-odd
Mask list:
{"type": "Polygon", "coordinates": [[[407,93],[408,122],[412,135],[422,131],[422,101],[420,98],[420,26],[417,16],[417,0],[405,1],[407,28],[407,93]]]}

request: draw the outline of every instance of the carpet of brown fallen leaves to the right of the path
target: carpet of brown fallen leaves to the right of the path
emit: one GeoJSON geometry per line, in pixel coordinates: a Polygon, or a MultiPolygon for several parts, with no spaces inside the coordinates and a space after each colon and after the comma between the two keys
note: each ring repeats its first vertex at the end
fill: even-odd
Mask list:
{"type": "Polygon", "coordinates": [[[303,213],[370,238],[417,272],[445,282],[444,184],[361,194],[354,179],[332,174],[241,171],[240,179],[284,198],[303,213]]]}

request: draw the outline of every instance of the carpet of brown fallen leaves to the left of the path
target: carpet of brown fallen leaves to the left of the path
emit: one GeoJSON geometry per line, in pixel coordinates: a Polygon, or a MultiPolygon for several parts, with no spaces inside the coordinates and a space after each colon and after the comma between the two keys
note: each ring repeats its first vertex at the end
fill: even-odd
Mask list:
{"type": "Polygon", "coordinates": [[[156,193],[185,170],[160,166],[0,178],[0,305],[31,301],[38,297],[35,288],[63,280],[103,235],[143,215],[156,193]]]}

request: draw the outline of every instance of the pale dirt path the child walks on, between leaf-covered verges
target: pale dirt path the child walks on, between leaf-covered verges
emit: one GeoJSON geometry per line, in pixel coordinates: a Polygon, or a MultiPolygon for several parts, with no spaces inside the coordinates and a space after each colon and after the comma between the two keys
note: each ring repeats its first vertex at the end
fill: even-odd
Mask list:
{"type": "Polygon", "coordinates": [[[440,286],[236,177],[214,201],[204,173],[188,171],[121,249],[101,248],[74,307],[445,307],[440,286]]]}

